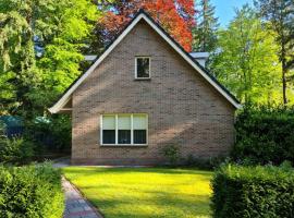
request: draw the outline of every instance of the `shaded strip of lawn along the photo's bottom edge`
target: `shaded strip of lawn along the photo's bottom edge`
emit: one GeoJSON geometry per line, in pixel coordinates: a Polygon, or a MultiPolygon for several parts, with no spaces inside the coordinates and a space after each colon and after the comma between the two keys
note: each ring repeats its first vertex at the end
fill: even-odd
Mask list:
{"type": "MultiPolygon", "coordinates": [[[[150,192],[148,192],[150,194],[150,192]]],[[[209,196],[186,196],[174,193],[152,192],[148,198],[117,196],[101,199],[98,196],[89,201],[106,217],[209,217],[209,196]],[[113,209],[117,208],[117,209],[113,209]],[[145,209],[152,208],[152,209],[145,209]]]]}

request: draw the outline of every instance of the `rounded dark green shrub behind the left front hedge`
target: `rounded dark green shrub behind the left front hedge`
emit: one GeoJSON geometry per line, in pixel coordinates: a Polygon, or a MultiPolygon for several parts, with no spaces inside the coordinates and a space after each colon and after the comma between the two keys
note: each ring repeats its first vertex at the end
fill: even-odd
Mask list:
{"type": "Polygon", "coordinates": [[[22,137],[0,137],[0,162],[22,165],[32,161],[34,144],[22,137]]]}

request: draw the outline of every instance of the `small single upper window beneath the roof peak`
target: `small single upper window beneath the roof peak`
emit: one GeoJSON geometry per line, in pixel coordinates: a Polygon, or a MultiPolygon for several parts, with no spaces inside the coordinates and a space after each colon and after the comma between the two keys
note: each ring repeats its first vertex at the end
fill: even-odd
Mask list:
{"type": "Polygon", "coordinates": [[[150,78],[150,57],[136,57],[135,78],[150,78]]]}

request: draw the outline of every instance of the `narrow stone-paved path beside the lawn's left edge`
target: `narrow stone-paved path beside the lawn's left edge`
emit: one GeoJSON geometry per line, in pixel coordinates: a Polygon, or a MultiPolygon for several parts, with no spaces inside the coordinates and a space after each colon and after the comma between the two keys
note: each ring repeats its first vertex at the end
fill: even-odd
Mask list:
{"type": "Polygon", "coordinates": [[[82,196],[75,186],[62,178],[65,194],[63,218],[102,218],[102,216],[82,196]]]}

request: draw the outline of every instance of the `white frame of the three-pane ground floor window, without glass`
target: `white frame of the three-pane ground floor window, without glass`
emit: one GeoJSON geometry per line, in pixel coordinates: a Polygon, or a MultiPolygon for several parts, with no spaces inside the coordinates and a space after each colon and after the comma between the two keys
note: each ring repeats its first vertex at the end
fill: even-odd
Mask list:
{"type": "Polygon", "coordinates": [[[100,116],[100,145],[101,146],[147,146],[148,145],[148,114],[147,113],[105,113],[100,116]],[[115,117],[115,144],[103,144],[103,116],[115,117]],[[131,144],[119,144],[119,116],[131,116],[131,144]],[[146,117],[146,144],[134,144],[134,128],[133,117],[145,116],[146,117]]]}

